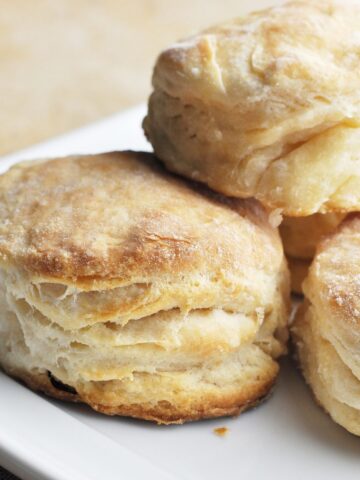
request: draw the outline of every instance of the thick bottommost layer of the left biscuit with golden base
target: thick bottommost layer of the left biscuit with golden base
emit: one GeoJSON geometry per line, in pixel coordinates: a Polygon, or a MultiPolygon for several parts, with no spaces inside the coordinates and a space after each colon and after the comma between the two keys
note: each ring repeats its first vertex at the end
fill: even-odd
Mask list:
{"type": "Polygon", "coordinates": [[[158,424],[181,424],[239,415],[266,399],[279,367],[275,362],[264,362],[261,353],[258,356],[258,352],[254,353],[249,358],[244,356],[219,365],[216,372],[197,369],[193,373],[136,375],[131,381],[81,385],[76,394],[59,390],[58,385],[54,387],[47,373],[4,368],[33,390],[60,400],[87,403],[106,415],[129,416],[158,424]],[[229,374],[234,368],[237,371],[241,368],[242,375],[229,374]],[[219,383],[222,373],[227,379],[222,378],[219,383]]]}

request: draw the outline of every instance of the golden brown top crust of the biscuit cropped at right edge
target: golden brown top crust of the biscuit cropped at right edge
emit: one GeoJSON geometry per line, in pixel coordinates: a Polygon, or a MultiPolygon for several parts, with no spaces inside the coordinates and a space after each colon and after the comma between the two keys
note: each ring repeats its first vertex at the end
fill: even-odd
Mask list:
{"type": "MultiPolygon", "coordinates": [[[[360,326],[360,214],[353,214],[318,247],[305,295],[333,321],[360,326]]],[[[339,325],[339,324],[338,324],[339,325]]]]}

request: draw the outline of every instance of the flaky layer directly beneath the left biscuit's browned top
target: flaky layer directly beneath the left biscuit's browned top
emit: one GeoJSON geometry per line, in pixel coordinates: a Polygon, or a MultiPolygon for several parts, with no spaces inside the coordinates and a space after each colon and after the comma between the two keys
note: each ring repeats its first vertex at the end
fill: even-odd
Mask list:
{"type": "MultiPolygon", "coordinates": [[[[283,259],[273,275],[254,266],[238,276],[221,272],[208,277],[200,271],[174,276],[167,283],[157,278],[149,284],[127,286],[102,282],[99,290],[84,289],[68,279],[32,278],[14,268],[0,269],[0,276],[14,298],[24,299],[52,322],[72,330],[107,322],[125,326],[131,320],[174,309],[183,314],[194,309],[241,309],[245,315],[256,309],[264,316],[273,308],[279,285],[286,283],[287,269],[283,259]]],[[[286,295],[286,287],[281,288],[286,295]]]]}

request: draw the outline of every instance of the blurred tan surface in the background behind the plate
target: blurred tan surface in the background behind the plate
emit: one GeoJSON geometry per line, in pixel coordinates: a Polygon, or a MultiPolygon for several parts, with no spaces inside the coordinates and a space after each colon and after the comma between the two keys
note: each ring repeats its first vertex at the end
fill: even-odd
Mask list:
{"type": "Polygon", "coordinates": [[[144,101],[155,57],[279,0],[0,0],[0,154],[144,101]]]}

